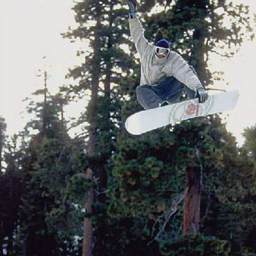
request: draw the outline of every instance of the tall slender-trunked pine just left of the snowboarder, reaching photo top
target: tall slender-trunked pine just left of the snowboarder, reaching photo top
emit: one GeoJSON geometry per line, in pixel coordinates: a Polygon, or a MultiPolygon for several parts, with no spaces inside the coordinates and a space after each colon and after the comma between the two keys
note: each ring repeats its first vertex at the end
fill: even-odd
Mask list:
{"type": "MultiPolygon", "coordinates": [[[[89,39],[89,50],[86,62],[82,66],[70,70],[70,76],[80,78],[78,85],[66,88],[66,92],[73,93],[75,97],[82,96],[90,91],[90,102],[87,111],[82,117],[89,123],[85,127],[88,132],[87,155],[95,159],[86,171],[86,179],[92,181],[99,178],[97,190],[99,196],[95,197],[92,188],[85,194],[86,217],[84,221],[83,255],[92,254],[92,201],[94,204],[105,208],[105,190],[107,184],[106,163],[114,149],[117,138],[117,127],[120,127],[120,103],[115,93],[118,86],[127,86],[129,82],[120,76],[120,73],[130,73],[132,59],[120,49],[119,45],[129,42],[125,36],[127,33],[126,17],[121,8],[122,1],[83,1],[74,6],[76,21],[79,28],[65,36],[69,38],[89,39]],[[90,21],[90,22],[89,22],[90,21]],[[94,25],[92,25],[94,22],[94,25]],[[118,86],[117,86],[118,85],[118,86]],[[96,165],[98,162],[100,165],[96,165]],[[94,196],[93,196],[94,194],[94,196]],[[97,203],[98,202],[98,203],[97,203]]],[[[94,191],[95,192],[95,191],[94,191]]],[[[103,210],[105,211],[105,210],[103,210]]],[[[100,214],[93,214],[101,218],[100,214]]],[[[103,214],[104,216],[105,214],[103,214]]],[[[105,217],[104,217],[105,218],[105,217]]],[[[96,254],[103,253],[103,237],[101,230],[105,230],[106,220],[99,228],[99,237],[96,241],[96,254]]]]}

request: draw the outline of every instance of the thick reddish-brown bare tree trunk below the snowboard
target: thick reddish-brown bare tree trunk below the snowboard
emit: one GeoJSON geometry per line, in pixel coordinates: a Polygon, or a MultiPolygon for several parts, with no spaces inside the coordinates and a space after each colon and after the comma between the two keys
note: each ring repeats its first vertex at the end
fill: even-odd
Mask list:
{"type": "Polygon", "coordinates": [[[184,198],[183,235],[199,233],[200,200],[201,200],[201,170],[200,167],[188,167],[184,198]]]}

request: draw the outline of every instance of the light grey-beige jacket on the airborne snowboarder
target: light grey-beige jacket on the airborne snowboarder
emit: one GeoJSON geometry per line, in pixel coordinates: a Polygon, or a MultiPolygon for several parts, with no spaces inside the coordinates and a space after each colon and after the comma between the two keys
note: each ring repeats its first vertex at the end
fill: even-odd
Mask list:
{"type": "Polygon", "coordinates": [[[130,32],[140,55],[141,78],[140,84],[155,85],[167,76],[174,76],[190,89],[203,87],[200,80],[190,69],[187,62],[178,53],[171,51],[165,58],[158,58],[154,52],[156,46],[151,45],[144,37],[144,30],[139,19],[129,19],[130,32]]]}

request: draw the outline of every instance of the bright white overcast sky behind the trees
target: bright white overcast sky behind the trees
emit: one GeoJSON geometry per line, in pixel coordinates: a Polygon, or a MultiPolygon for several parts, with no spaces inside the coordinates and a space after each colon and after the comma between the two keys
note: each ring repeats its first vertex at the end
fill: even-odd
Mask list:
{"type": "MultiPolygon", "coordinates": [[[[255,0],[233,2],[250,5],[256,12],[255,0]]],[[[38,70],[48,70],[48,87],[55,93],[67,83],[68,69],[83,61],[76,57],[76,50],[84,44],[70,43],[60,35],[69,26],[76,27],[72,6],[72,0],[0,1],[0,116],[6,119],[9,135],[21,131],[28,122],[29,117],[21,114],[26,106],[22,100],[43,88],[43,78],[37,77],[42,72],[38,70]]],[[[212,60],[212,70],[222,69],[225,83],[240,90],[238,105],[227,119],[228,130],[239,143],[244,128],[256,123],[255,42],[244,43],[231,60],[223,62],[219,56],[212,60]]],[[[85,102],[72,104],[68,114],[78,116],[84,105],[85,102]]]]}

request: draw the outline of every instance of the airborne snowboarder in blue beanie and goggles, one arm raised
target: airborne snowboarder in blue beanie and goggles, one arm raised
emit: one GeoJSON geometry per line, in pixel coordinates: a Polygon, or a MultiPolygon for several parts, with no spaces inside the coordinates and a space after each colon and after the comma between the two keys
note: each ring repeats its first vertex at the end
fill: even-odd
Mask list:
{"type": "Polygon", "coordinates": [[[208,94],[201,85],[193,67],[178,53],[170,50],[170,43],[161,39],[152,45],[144,37],[136,17],[137,1],[128,0],[130,32],[140,55],[140,86],[136,87],[137,100],[144,109],[153,109],[169,103],[177,103],[185,91],[188,99],[198,97],[200,103],[208,94]]]}

